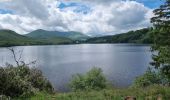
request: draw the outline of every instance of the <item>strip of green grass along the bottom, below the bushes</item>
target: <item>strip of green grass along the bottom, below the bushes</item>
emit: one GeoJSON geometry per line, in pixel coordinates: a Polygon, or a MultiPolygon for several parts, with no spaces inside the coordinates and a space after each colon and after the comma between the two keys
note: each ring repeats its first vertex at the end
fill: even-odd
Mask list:
{"type": "Polygon", "coordinates": [[[47,94],[37,93],[29,98],[17,100],[124,100],[126,96],[134,96],[137,100],[170,99],[170,87],[153,85],[146,88],[105,89],[101,91],[78,91],[69,93],[47,94]]]}

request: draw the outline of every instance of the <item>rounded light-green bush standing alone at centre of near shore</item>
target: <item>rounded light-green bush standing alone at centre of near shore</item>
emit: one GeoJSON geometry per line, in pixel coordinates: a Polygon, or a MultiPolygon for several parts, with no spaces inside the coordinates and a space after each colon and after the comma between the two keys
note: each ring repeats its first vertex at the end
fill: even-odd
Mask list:
{"type": "Polygon", "coordinates": [[[78,90],[99,90],[106,88],[106,78],[100,68],[92,68],[85,75],[76,74],[70,82],[73,91],[78,90]]]}

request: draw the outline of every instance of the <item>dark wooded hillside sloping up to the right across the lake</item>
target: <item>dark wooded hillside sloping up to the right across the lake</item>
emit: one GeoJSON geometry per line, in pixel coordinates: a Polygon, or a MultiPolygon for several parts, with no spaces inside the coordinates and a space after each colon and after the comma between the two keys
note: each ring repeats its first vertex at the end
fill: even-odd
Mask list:
{"type": "Polygon", "coordinates": [[[144,28],[127,33],[90,38],[86,43],[153,43],[150,33],[152,28],[144,28]]]}

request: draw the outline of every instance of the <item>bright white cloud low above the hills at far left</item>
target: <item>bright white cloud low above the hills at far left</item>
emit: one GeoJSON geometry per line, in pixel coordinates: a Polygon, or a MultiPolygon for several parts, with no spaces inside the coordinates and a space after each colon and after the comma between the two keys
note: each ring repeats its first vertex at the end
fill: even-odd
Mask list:
{"type": "Polygon", "coordinates": [[[11,29],[20,34],[35,30],[41,23],[35,18],[21,17],[18,15],[0,15],[0,26],[3,29],[11,29]]]}

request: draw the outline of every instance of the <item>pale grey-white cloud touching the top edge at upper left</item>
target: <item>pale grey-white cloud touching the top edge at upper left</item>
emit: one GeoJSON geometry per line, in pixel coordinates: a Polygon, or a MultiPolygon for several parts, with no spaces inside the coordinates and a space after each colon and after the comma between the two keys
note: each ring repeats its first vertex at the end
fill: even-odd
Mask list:
{"type": "Polygon", "coordinates": [[[44,0],[10,0],[4,3],[6,9],[15,14],[45,19],[49,16],[44,0]]]}

